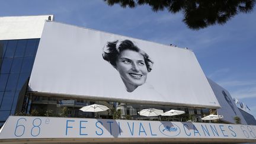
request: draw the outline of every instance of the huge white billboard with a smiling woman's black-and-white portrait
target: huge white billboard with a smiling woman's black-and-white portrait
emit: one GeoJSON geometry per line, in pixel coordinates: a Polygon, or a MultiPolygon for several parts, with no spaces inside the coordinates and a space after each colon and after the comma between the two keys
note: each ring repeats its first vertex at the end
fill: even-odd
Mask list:
{"type": "Polygon", "coordinates": [[[219,107],[191,50],[46,22],[31,91],[219,107]]]}

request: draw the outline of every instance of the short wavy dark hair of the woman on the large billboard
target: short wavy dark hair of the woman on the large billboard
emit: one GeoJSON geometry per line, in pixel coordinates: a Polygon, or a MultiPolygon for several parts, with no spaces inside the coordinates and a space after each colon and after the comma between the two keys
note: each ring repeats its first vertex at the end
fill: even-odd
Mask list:
{"type": "Polygon", "coordinates": [[[103,48],[103,59],[107,62],[110,62],[114,68],[116,68],[116,61],[118,56],[123,50],[133,50],[135,52],[140,53],[144,57],[144,61],[146,64],[146,68],[148,72],[151,72],[153,61],[149,58],[148,54],[146,54],[143,50],[140,50],[135,44],[133,44],[130,40],[116,40],[116,41],[108,41],[108,43],[103,48]]]}

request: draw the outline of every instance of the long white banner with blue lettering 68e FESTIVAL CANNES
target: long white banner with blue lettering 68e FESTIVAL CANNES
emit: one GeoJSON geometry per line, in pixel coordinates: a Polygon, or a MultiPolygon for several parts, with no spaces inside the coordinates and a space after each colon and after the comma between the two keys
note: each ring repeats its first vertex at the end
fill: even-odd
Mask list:
{"type": "Polygon", "coordinates": [[[10,116],[0,132],[0,139],[62,137],[256,138],[256,126],[238,124],[27,116],[10,116]]]}

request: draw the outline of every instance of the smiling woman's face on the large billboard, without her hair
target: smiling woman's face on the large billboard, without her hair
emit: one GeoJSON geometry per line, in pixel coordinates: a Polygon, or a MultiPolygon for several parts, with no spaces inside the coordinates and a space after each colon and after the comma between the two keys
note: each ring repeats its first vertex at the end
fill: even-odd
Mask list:
{"type": "Polygon", "coordinates": [[[144,57],[133,50],[123,50],[117,57],[116,69],[128,92],[134,91],[146,82],[148,69],[144,57]]]}

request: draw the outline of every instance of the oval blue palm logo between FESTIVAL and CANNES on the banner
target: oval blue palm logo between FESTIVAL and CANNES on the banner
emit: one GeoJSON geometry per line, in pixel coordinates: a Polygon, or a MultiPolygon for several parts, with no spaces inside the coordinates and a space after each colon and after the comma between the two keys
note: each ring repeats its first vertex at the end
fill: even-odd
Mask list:
{"type": "Polygon", "coordinates": [[[178,136],[180,135],[180,127],[172,123],[162,123],[159,126],[159,130],[165,136],[178,136]]]}

